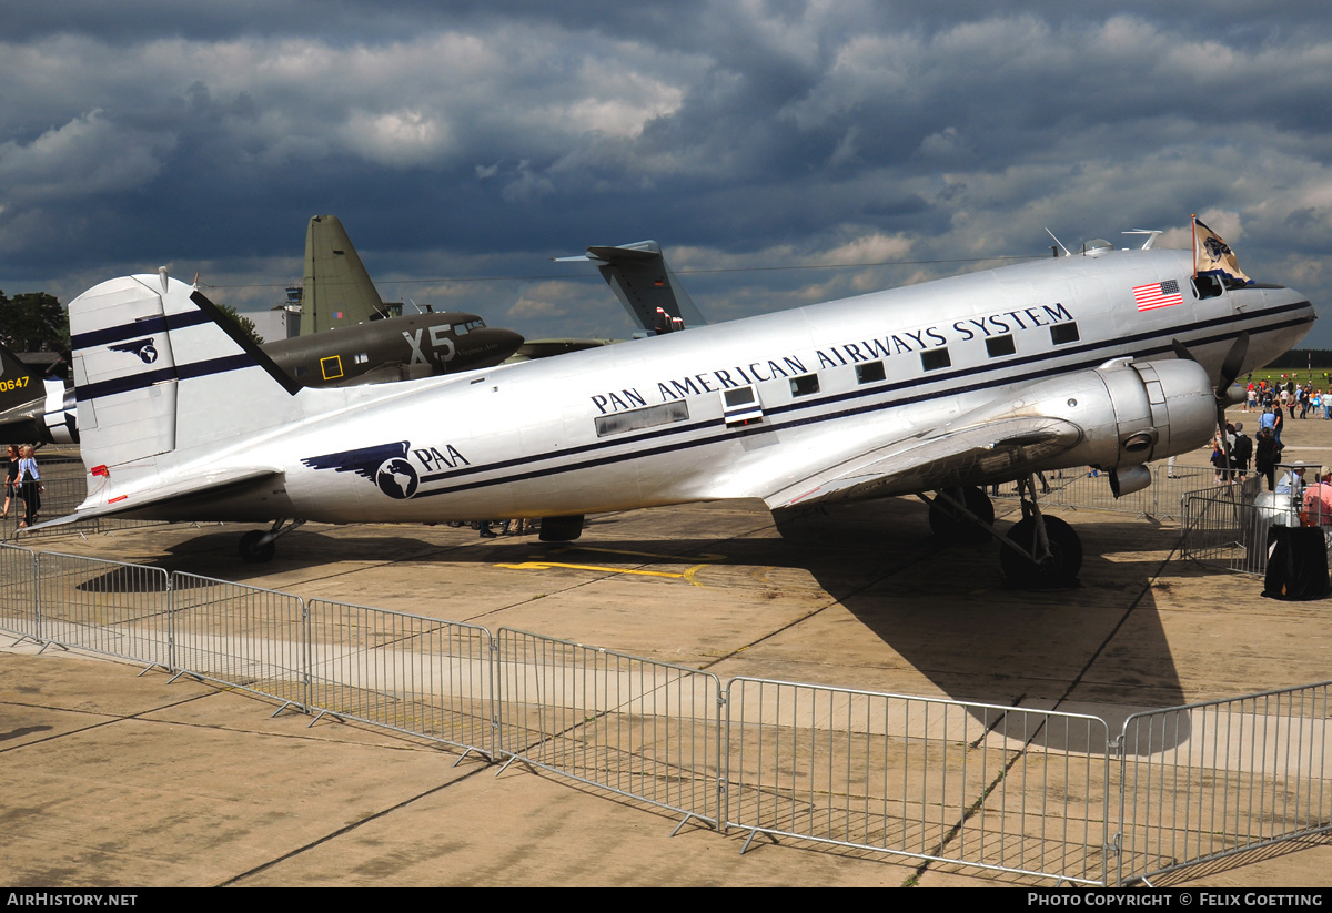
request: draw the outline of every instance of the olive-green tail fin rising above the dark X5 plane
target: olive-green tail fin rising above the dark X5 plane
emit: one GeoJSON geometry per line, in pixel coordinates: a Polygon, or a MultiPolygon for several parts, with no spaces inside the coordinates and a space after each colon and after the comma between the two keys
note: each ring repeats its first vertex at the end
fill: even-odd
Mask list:
{"type": "Polygon", "coordinates": [[[314,216],[305,230],[301,335],[385,315],[384,299],[337,216],[314,216]]]}

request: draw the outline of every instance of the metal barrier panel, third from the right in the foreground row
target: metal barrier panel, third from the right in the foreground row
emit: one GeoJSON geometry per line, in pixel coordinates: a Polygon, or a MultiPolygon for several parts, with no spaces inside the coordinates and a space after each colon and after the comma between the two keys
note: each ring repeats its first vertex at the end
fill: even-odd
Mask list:
{"type": "Polygon", "coordinates": [[[715,675],[511,628],[497,644],[498,755],[718,825],[715,675]]]}

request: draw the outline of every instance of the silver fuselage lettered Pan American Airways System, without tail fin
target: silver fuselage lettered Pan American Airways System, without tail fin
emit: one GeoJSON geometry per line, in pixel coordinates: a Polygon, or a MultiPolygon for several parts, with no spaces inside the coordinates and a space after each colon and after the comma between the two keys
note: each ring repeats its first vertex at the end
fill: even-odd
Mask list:
{"type": "MultiPolygon", "coordinates": [[[[1247,333],[1243,370],[1253,370],[1312,321],[1309,302],[1285,287],[1200,297],[1188,252],[1032,261],[551,361],[392,389],[302,390],[305,418],[230,447],[177,450],[161,480],[237,462],[272,467],[274,476],[206,503],[125,507],[160,519],[350,523],[771,499],[825,467],[1034,385],[1058,394],[1060,378],[1114,359],[1171,362],[1172,339],[1215,378],[1247,333]]],[[[1199,434],[1203,425],[1193,421],[1187,435],[1163,437],[1132,459],[1200,446],[1209,434],[1199,434]]],[[[1086,464],[1102,453],[1087,447],[1008,478],[1086,464]]],[[[999,476],[992,467],[959,470],[947,483],[999,476]]],[[[101,503],[117,484],[112,467],[101,503]]],[[[875,496],[920,487],[886,484],[875,496]]]]}

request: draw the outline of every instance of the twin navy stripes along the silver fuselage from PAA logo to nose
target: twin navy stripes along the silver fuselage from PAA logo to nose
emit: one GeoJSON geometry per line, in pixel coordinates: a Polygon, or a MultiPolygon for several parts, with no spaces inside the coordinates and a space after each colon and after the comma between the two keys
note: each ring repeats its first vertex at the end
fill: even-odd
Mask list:
{"type": "MultiPolygon", "coordinates": [[[[1207,327],[1219,326],[1219,325],[1224,325],[1224,323],[1233,323],[1233,322],[1237,322],[1237,321],[1255,319],[1256,317],[1260,317],[1260,315],[1281,314],[1281,313],[1287,313],[1287,311],[1291,311],[1291,310],[1305,309],[1308,306],[1309,306],[1309,302],[1301,301],[1301,302],[1297,302],[1297,303],[1293,303],[1293,305],[1284,305],[1281,307],[1273,307],[1271,310],[1263,311],[1263,314],[1239,314],[1239,315],[1231,315],[1231,317],[1225,317],[1225,318],[1220,318],[1220,319],[1200,321],[1199,323],[1193,323],[1193,325],[1191,325],[1188,327],[1175,327],[1173,330],[1171,330],[1168,333],[1168,335],[1171,338],[1177,338],[1179,335],[1181,335],[1184,333],[1196,331],[1197,329],[1207,329],[1207,327]]],[[[1293,319],[1288,319],[1288,321],[1281,321],[1280,323],[1272,323],[1272,325],[1265,325],[1265,326],[1261,326],[1261,327],[1253,327],[1253,329],[1248,330],[1248,333],[1251,335],[1257,335],[1257,334],[1263,334],[1263,333],[1275,333],[1277,330],[1284,330],[1284,329],[1300,326],[1303,323],[1311,323],[1312,321],[1313,321],[1312,317],[1299,317],[1299,318],[1293,318],[1293,319]]],[[[1100,342],[1100,343],[1088,343],[1086,346],[1078,346],[1078,347],[1070,347],[1070,349],[1063,349],[1063,350],[1054,350],[1054,351],[1040,353],[1038,355],[1028,355],[1028,357],[1023,357],[1020,359],[1008,359],[1008,361],[1006,361],[1003,363],[998,363],[998,365],[982,365],[982,366],[976,366],[976,367],[971,367],[971,369],[963,369],[963,370],[958,370],[958,371],[951,371],[951,373],[947,373],[947,374],[942,374],[938,378],[928,378],[928,379],[914,378],[914,379],[910,379],[910,381],[899,381],[896,383],[887,383],[887,385],[878,385],[878,386],[866,385],[866,387],[863,387],[863,389],[851,390],[848,393],[835,394],[835,395],[830,395],[830,397],[822,397],[822,398],[819,398],[817,401],[802,401],[802,402],[795,402],[795,403],[790,403],[790,405],[786,405],[786,406],[777,406],[774,409],[767,409],[767,410],[765,410],[765,415],[781,415],[781,414],[791,413],[791,411],[797,411],[797,410],[799,410],[799,411],[807,411],[810,409],[814,409],[814,407],[818,407],[818,406],[826,406],[829,403],[843,402],[843,401],[847,401],[847,399],[862,399],[862,398],[866,398],[866,397],[875,397],[875,395],[882,395],[884,393],[892,393],[895,390],[918,387],[918,386],[922,386],[922,383],[935,383],[938,381],[955,379],[955,378],[960,378],[960,377],[975,377],[975,375],[980,375],[980,374],[990,374],[990,373],[994,373],[994,371],[1008,371],[1008,370],[1011,370],[1014,367],[1015,363],[1030,363],[1030,362],[1040,362],[1040,361],[1047,361],[1048,362],[1048,361],[1055,359],[1055,358],[1064,358],[1064,357],[1067,357],[1070,354],[1083,354],[1083,353],[1090,353],[1090,351],[1096,351],[1096,350],[1118,349],[1118,347],[1124,346],[1124,345],[1131,345],[1132,342],[1142,342],[1142,341],[1147,341],[1147,339],[1162,339],[1164,335],[1167,335],[1167,334],[1163,334],[1163,333],[1143,333],[1143,334],[1136,334],[1134,337],[1116,338],[1116,339],[1110,339],[1110,341],[1106,341],[1106,342],[1100,342]]],[[[1212,342],[1228,342],[1228,341],[1231,341],[1233,338],[1233,335],[1235,334],[1232,331],[1232,333],[1225,333],[1225,334],[1219,334],[1219,335],[1204,337],[1201,339],[1188,339],[1185,342],[1185,345],[1189,345],[1189,346],[1203,346],[1203,345],[1209,345],[1212,342]]],[[[1168,342],[1166,342],[1166,343],[1160,343],[1159,342],[1158,345],[1155,345],[1151,349],[1135,353],[1134,357],[1135,358],[1146,358],[1146,357],[1159,355],[1159,354],[1172,353],[1172,351],[1173,350],[1172,350],[1172,347],[1171,347],[1171,345],[1168,342]]],[[[693,439],[693,441],[681,441],[681,442],[675,442],[675,443],[662,445],[659,447],[653,447],[650,450],[631,450],[631,451],[627,451],[627,453],[613,454],[613,455],[609,455],[609,456],[602,456],[602,458],[597,458],[597,459],[582,460],[582,462],[578,462],[578,463],[567,463],[567,464],[563,464],[563,466],[551,466],[551,467],[545,467],[545,468],[539,468],[539,470],[531,470],[531,471],[527,471],[527,472],[505,475],[503,478],[497,478],[497,479],[481,479],[481,480],[477,480],[477,482],[468,482],[468,483],[464,483],[464,484],[441,486],[438,488],[432,488],[430,491],[418,491],[416,496],[417,498],[426,498],[429,495],[449,494],[449,492],[456,492],[456,491],[468,491],[468,490],[472,490],[472,488],[482,488],[482,487],[492,486],[492,484],[507,484],[510,482],[522,482],[525,479],[541,478],[541,476],[545,476],[545,475],[555,475],[555,474],[561,474],[561,472],[573,472],[573,471],[585,470],[585,468],[594,468],[597,466],[606,466],[606,464],[610,464],[610,463],[618,463],[618,462],[623,462],[626,459],[634,459],[634,458],[638,458],[638,456],[653,456],[653,455],[657,455],[657,454],[669,453],[671,450],[687,450],[687,449],[693,449],[693,447],[702,447],[702,446],[707,446],[710,443],[715,443],[718,441],[729,441],[731,438],[741,437],[741,435],[763,434],[763,433],[767,433],[767,431],[775,431],[778,429],[790,429],[790,427],[798,427],[798,426],[802,426],[802,425],[813,425],[813,423],[818,423],[818,422],[835,421],[835,419],[839,419],[839,418],[847,418],[850,415],[856,415],[856,414],[862,414],[862,413],[879,411],[879,410],[883,410],[883,409],[896,409],[899,406],[907,406],[907,405],[911,405],[911,403],[924,402],[924,401],[928,401],[928,399],[938,399],[938,398],[943,398],[943,397],[954,397],[954,395],[958,395],[958,394],[962,394],[962,393],[972,393],[972,391],[976,391],[976,390],[986,390],[986,389],[992,389],[992,387],[1006,387],[1006,386],[1011,386],[1014,383],[1026,383],[1026,382],[1038,381],[1038,379],[1042,379],[1042,378],[1055,377],[1055,375],[1059,375],[1059,374],[1067,374],[1070,371],[1079,371],[1079,370],[1094,369],[1094,367],[1100,366],[1103,363],[1103,361],[1104,361],[1104,357],[1098,357],[1098,358],[1094,358],[1094,359],[1084,361],[1082,363],[1058,365],[1058,366],[1054,366],[1054,367],[1046,367],[1046,369],[1039,370],[1039,371],[1028,371],[1026,374],[1019,374],[1019,375],[1012,375],[1012,377],[1006,375],[1006,377],[996,378],[996,379],[980,381],[980,382],[970,383],[970,385],[966,385],[966,386],[948,387],[947,390],[934,390],[931,393],[922,393],[922,394],[916,394],[914,397],[904,397],[904,398],[892,399],[892,401],[888,401],[888,402],[867,403],[867,405],[863,405],[863,406],[855,406],[852,409],[842,409],[842,410],[838,410],[835,413],[821,413],[818,415],[809,415],[806,418],[798,418],[798,419],[794,419],[794,421],[783,422],[779,426],[767,426],[767,425],[763,425],[763,426],[757,426],[757,427],[751,427],[751,429],[746,429],[746,430],[741,430],[741,431],[729,431],[727,430],[727,431],[723,431],[721,434],[709,435],[706,438],[697,438],[697,439],[693,439]]],[[[484,466],[473,466],[473,467],[469,467],[469,468],[465,468],[465,470],[460,470],[457,472],[437,472],[437,474],[433,474],[433,475],[421,476],[421,483],[425,484],[426,482],[436,482],[436,480],[440,480],[440,479],[457,479],[458,476],[462,476],[462,475],[472,475],[472,474],[476,474],[476,472],[492,472],[492,471],[505,470],[505,468],[515,467],[515,466],[523,466],[523,464],[531,464],[531,463],[541,463],[541,462],[550,460],[550,459],[567,459],[569,456],[575,456],[578,454],[585,454],[585,453],[597,451],[597,450],[605,450],[607,447],[615,447],[615,446],[622,446],[622,445],[634,445],[634,443],[641,443],[643,441],[651,441],[654,438],[662,438],[662,437],[667,437],[667,435],[682,435],[682,434],[687,434],[690,431],[698,431],[698,430],[706,429],[706,427],[715,427],[719,421],[721,419],[706,421],[706,422],[691,422],[689,425],[682,425],[682,426],[671,425],[671,426],[666,426],[666,427],[663,427],[661,430],[649,431],[646,434],[635,435],[633,438],[625,438],[622,441],[599,441],[599,442],[590,443],[590,445],[583,445],[583,446],[579,446],[579,447],[570,447],[570,449],[562,450],[559,453],[538,454],[538,455],[533,455],[533,456],[519,456],[519,458],[514,458],[514,459],[509,459],[509,460],[502,460],[500,463],[489,463],[489,464],[484,464],[484,466]]]]}

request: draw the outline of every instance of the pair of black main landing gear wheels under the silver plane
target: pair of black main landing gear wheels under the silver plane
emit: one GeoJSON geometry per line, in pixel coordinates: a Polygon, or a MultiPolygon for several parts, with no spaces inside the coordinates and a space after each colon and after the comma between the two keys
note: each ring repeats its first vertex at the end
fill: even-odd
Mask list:
{"type": "Polygon", "coordinates": [[[1058,516],[1044,516],[1032,476],[1018,480],[1022,519],[1004,535],[995,530],[995,510],[980,488],[946,488],[930,500],[930,528],[944,540],[983,543],[999,538],[999,564],[1008,582],[1023,590],[1072,586],[1082,570],[1082,539],[1058,516]]]}

